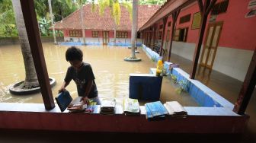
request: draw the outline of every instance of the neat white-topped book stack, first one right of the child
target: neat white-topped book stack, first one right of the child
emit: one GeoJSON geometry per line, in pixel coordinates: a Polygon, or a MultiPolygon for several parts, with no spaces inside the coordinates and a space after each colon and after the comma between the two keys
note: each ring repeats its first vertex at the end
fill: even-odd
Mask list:
{"type": "Polygon", "coordinates": [[[101,113],[104,115],[114,115],[116,100],[105,99],[101,101],[101,113]]]}

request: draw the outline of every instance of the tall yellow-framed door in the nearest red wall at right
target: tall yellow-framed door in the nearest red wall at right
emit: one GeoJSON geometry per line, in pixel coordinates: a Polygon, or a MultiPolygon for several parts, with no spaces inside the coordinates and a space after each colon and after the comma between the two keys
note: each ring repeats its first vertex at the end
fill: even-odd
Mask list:
{"type": "Polygon", "coordinates": [[[200,59],[200,66],[212,69],[219,43],[219,37],[223,22],[210,23],[206,32],[206,39],[203,44],[203,52],[200,59]]]}

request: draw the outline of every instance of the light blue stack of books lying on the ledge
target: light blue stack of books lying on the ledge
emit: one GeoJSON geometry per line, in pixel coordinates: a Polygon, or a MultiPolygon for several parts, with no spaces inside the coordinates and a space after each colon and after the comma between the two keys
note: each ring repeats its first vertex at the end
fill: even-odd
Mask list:
{"type": "Polygon", "coordinates": [[[165,109],[165,106],[160,101],[146,103],[148,106],[149,111],[152,113],[153,117],[156,116],[165,116],[168,114],[168,111],[165,109]]]}

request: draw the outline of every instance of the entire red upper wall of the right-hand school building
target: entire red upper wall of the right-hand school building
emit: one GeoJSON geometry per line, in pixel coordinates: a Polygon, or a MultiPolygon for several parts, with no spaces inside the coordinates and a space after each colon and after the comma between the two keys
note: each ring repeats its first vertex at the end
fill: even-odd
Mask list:
{"type": "MultiPolygon", "coordinates": [[[[219,39],[219,46],[225,46],[234,49],[247,49],[254,50],[256,47],[256,16],[245,18],[245,14],[248,13],[248,2],[250,0],[229,0],[229,7],[224,14],[219,14],[216,17],[216,21],[223,21],[222,33],[219,39]]],[[[218,2],[221,2],[219,0],[218,2]]],[[[188,27],[187,43],[197,43],[199,29],[192,30],[191,25],[193,21],[194,13],[199,11],[197,3],[181,11],[178,16],[176,28],[188,27]],[[191,14],[190,22],[179,24],[180,17],[191,14]]],[[[168,22],[172,22],[171,16],[168,17],[168,22]]],[[[209,17],[208,17],[209,21],[209,17]]],[[[161,22],[158,21],[158,25],[161,22]]],[[[206,24],[206,30],[207,30],[206,24]]],[[[165,39],[167,30],[171,30],[171,27],[165,28],[165,39]]],[[[206,31],[205,31],[206,35],[206,31]]],[[[204,41],[204,40],[203,40],[204,41]]]]}

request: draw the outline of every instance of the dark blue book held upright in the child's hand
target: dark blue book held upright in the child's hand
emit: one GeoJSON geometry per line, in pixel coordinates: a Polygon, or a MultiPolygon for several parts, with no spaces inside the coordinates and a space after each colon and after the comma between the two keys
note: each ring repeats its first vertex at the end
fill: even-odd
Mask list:
{"type": "Polygon", "coordinates": [[[57,97],[55,97],[55,100],[59,109],[63,112],[69,106],[69,103],[72,102],[72,97],[70,96],[69,91],[62,91],[57,97]]]}

